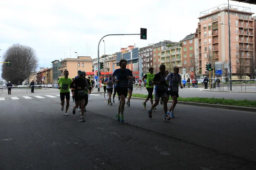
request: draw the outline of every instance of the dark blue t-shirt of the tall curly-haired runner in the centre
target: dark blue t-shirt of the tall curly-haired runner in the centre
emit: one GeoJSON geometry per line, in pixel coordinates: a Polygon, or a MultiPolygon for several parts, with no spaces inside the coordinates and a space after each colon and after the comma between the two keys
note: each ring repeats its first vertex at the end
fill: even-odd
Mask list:
{"type": "Polygon", "coordinates": [[[132,74],[128,68],[126,68],[125,70],[121,70],[121,68],[118,68],[113,72],[113,76],[116,76],[116,79],[119,80],[116,83],[116,87],[127,88],[128,87],[127,76],[132,77],[132,74]]]}

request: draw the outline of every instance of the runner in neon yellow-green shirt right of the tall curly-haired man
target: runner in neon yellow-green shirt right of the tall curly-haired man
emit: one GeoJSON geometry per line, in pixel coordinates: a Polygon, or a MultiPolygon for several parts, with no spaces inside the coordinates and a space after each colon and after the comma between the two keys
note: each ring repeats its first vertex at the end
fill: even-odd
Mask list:
{"type": "MultiPolygon", "coordinates": [[[[144,79],[147,79],[147,81],[145,82],[146,85],[146,89],[148,91],[148,96],[145,99],[145,101],[142,103],[144,108],[146,108],[146,103],[148,102],[148,99],[150,99],[151,102],[151,106],[153,105],[153,91],[154,91],[154,85],[152,84],[152,81],[154,79],[154,68],[148,68],[148,73],[145,74],[142,78],[142,81],[144,82],[144,79]]],[[[153,110],[155,110],[157,108],[154,108],[153,110]]]]}

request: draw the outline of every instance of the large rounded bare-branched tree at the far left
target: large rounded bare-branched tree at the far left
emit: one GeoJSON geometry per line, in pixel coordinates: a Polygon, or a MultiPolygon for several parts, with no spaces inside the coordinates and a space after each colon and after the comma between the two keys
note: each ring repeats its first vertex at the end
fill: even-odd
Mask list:
{"type": "Polygon", "coordinates": [[[35,50],[26,45],[14,44],[3,55],[3,60],[10,60],[11,65],[2,65],[2,77],[12,84],[23,82],[38,67],[35,50]]]}

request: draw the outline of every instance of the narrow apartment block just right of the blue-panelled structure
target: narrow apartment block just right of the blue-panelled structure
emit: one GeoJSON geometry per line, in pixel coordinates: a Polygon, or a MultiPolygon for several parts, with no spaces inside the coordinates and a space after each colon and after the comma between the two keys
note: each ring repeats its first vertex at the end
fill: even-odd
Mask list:
{"type": "Polygon", "coordinates": [[[148,68],[153,67],[153,45],[148,45],[139,50],[142,59],[142,72],[148,73],[148,68]]]}

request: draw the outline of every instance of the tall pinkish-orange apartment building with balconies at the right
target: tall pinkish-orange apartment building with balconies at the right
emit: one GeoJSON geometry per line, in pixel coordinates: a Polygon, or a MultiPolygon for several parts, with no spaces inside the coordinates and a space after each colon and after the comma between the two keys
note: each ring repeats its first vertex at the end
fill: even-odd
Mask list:
{"type": "MultiPolygon", "coordinates": [[[[254,20],[251,8],[230,5],[231,65],[236,74],[237,58],[243,59],[246,74],[254,54],[254,20]]],[[[198,18],[199,71],[206,74],[206,64],[229,62],[228,4],[200,13],[198,18]]]]}

